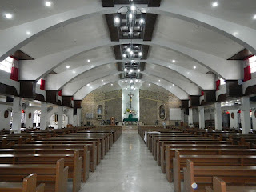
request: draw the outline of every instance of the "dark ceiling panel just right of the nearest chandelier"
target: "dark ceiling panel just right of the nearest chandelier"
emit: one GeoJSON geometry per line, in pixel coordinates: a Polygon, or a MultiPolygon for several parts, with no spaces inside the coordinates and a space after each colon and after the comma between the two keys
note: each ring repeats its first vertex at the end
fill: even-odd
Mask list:
{"type": "Polygon", "coordinates": [[[154,26],[157,21],[157,14],[145,14],[144,41],[152,41],[154,26]]]}

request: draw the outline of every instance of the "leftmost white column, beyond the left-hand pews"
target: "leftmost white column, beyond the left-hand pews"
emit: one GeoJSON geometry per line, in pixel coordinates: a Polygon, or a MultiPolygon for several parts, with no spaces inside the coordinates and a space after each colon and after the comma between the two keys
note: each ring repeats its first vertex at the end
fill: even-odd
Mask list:
{"type": "Polygon", "coordinates": [[[17,133],[21,133],[21,120],[22,110],[20,107],[20,98],[14,97],[12,130],[15,130],[17,133]]]}

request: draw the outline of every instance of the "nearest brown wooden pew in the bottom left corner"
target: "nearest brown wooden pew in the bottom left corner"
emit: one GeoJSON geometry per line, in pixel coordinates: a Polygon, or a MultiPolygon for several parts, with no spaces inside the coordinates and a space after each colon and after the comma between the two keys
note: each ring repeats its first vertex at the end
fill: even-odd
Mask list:
{"type": "Polygon", "coordinates": [[[45,184],[37,186],[37,174],[23,178],[23,182],[0,182],[1,192],[44,192],[45,184]]]}

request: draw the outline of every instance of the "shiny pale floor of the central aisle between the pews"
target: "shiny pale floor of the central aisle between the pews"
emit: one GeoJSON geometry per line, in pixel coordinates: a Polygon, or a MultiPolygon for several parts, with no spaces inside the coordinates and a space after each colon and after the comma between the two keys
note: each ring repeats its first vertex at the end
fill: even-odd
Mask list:
{"type": "Polygon", "coordinates": [[[94,173],[82,192],[172,192],[137,132],[125,130],[94,173]]]}

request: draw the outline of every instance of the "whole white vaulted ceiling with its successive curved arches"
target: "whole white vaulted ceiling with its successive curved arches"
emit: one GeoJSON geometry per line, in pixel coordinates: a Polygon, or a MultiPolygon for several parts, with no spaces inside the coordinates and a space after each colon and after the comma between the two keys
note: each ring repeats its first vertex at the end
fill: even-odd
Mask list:
{"type": "Polygon", "coordinates": [[[112,83],[122,89],[125,62],[132,61],[143,66],[138,87],[152,82],[147,89],[159,86],[188,99],[215,90],[218,77],[241,79],[242,62],[228,58],[245,48],[256,54],[254,0],[226,0],[218,6],[210,0],[134,0],[145,18],[132,40],[143,56],[134,59],[122,58],[131,40],[113,21],[129,1],[51,2],[1,1],[0,12],[13,18],[0,17],[0,60],[22,50],[34,60],[20,62],[21,80],[45,77],[46,90],[62,89],[74,99],[99,88],[110,90],[103,87],[112,83]]]}

